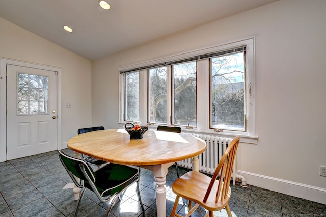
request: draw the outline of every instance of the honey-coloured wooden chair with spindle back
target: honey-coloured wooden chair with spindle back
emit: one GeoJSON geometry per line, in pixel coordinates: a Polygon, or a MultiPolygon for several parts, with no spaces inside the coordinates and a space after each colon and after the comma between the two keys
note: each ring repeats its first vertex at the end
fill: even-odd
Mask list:
{"type": "Polygon", "coordinates": [[[180,197],[189,200],[189,212],[186,216],[190,216],[199,206],[208,210],[205,216],[214,216],[213,211],[223,208],[226,208],[228,216],[232,216],[228,205],[231,197],[230,180],[239,140],[239,137],[235,137],[228,145],[212,178],[200,172],[190,171],[172,184],[172,191],[177,197],[171,217],[181,216],[176,213],[180,197]],[[219,175],[220,178],[216,180],[219,175]],[[192,201],[195,205],[191,208],[192,201]]]}

